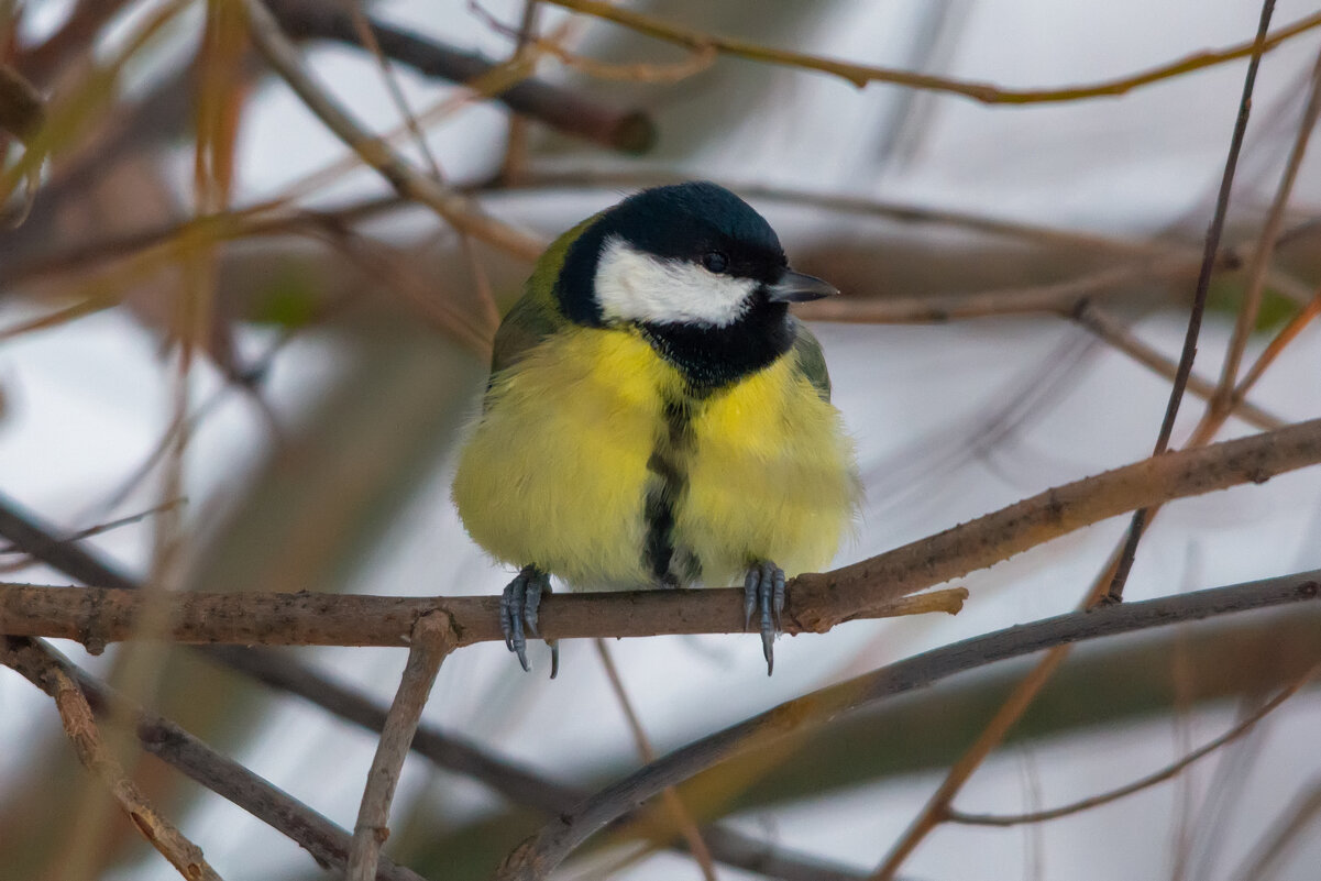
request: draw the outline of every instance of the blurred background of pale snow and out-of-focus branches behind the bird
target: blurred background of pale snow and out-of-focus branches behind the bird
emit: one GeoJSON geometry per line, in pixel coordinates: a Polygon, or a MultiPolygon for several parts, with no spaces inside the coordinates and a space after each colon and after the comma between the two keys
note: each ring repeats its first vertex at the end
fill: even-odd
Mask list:
{"type": "MultiPolygon", "coordinates": [[[[1244,58],[1119,96],[985,104],[690,50],[552,3],[267,5],[358,125],[507,235],[399,197],[272,73],[239,3],[0,3],[0,506],[59,535],[91,531],[85,544],[129,577],[178,590],[498,593],[510,573],[468,540],[448,489],[497,317],[536,242],[663,181],[741,193],[795,268],[845,293],[804,310],[867,487],[838,564],[1151,453],[1244,58]],[[361,45],[369,18],[380,54],[361,45]],[[30,211],[15,225],[36,155],[30,211]]],[[[697,34],[1005,90],[1248,44],[1260,13],[1243,0],[620,5],[697,34]]],[[[1317,12],[1281,0],[1272,29],[1317,12]]],[[[1306,324],[1321,284],[1314,152],[1277,232],[1266,230],[1316,122],[1318,50],[1321,28],[1301,29],[1263,58],[1194,367],[1205,383],[1174,446],[1206,409],[1263,240],[1273,252],[1244,369],[1281,329],[1297,333],[1215,437],[1321,415],[1321,330],[1306,324]]],[[[974,573],[958,617],[781,639],[771,679],[753,637],[609,650],[663,753],[843,676],[1070,610],[1125,524],[974,573]]],[[[1318,469],[1180,502],[1143,542],[1127,596],[1314,569],[1318,532],[1318,469]]],[[[77,579],[0,549],[9,581],[77,579]]],[[[353,827],[371,732],[188,649],[61,649],[353,827]]],[[[553,682],[535,649],[530,675],[503,646],[458,651],[424,721],[579,791],[638,767],[596,649],[565,643],[553,682]]],[[[404,662],[399,650],[289,654],[382,705],[404,662]]],[[[955,804],[1013,814],[1136,779],[1318,658],[1321,614],[1297,609],[1081,647],[955,804]]],[[[717,860],[719,877],[867,877],[1026,670],[951,679],[682,790],[699,819],[798,860],[770,872],[717,860]]],[[[1049,823],[943,824],[901,876],[1314,878],[1318,730],[1321,701],[1304,689],[1127,799],[1049,823]]],[[[326,874],[230,802],[131,745],[123,756],[222,876],[326,874]]],[[[173,877],[119,815],[86,819],[103,798],[50,700],[0,671],[0,878],[173,877]],[[77,869],[71,851],[87,857],[77,869]]],[[[485,878],[543,810],[481,769],[412,756],[386,852],[429,878],[485,878]]],[[[701,869],[602,836],[557,877],[701,869]]]]}

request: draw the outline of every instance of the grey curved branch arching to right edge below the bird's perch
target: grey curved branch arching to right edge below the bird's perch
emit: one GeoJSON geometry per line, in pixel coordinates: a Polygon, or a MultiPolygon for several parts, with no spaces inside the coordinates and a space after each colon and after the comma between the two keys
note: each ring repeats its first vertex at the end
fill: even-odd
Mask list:
{"type": "Polygon", "coordinates": [[[1305,602],[1321,596],[1321,572],[1213,588],[1144,602],[1073,612],[933,649],[875,672],[790,700],[752,719],[692,741],[608,786],[523,841],[505,861],[498,881],[544,878],[577,845],[624,812],[732,756],[765,749],[786,734],[824,724],[840,713],[930,686],[947,676],[1053,646],[1148,627],[1199,621],[1231,612],[1305,602]]]}

